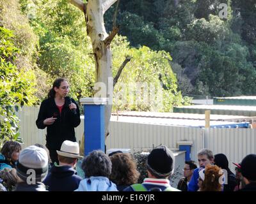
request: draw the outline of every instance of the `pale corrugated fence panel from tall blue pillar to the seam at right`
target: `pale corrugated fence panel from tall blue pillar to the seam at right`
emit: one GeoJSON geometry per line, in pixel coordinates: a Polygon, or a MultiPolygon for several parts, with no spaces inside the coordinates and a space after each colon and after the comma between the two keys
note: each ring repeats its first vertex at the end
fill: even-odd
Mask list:
{"type": "Polygon", "coordinates": [[[200,141],[202,129],[200,128],[111,121],[109,133],[106,140],[108,149],[131,149],[132,152],[137,152],[152,149],[158,145],[178,149],[179,140],[191,140],[193,141],[191,158],[195,159],[196,152],[202,148],[200,141]]]}

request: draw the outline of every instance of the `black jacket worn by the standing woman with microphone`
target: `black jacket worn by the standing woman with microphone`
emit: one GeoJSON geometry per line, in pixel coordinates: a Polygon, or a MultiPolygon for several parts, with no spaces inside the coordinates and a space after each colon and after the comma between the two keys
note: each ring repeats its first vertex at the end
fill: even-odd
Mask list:
{"type": "Polygon", "coordinates": [[[72,113],[68,107],[70,101],[68,101],[67,97],[65,98],[65,103],[61,110],[61,114],[60,110],[56,106],[54,98],[45,99],[40,106],[36,126],[39,129],[44,129],[47,127],[46,147],[48,149],[60,150],[61,144],[65,140],[76,142],[74,128],[79,126],[81,120],[79,107],[76,101],[74,101],[74,99],[71,99],[71,101],[72,103],[76,104],[76,113],[72,113]],[[56,117],[57,119],[53,124],[45,126],[44,120],[49,117],[56,117]]]}

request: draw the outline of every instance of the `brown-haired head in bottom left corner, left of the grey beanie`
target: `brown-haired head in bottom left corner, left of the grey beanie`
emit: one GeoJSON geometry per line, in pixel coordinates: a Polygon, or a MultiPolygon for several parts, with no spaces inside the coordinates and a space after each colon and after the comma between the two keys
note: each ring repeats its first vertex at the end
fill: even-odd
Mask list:
{"type": "Polygon", "coordinates": [[[12,191],[19,179],[15,168],[4,168],[2,171],[0,171],[0,178],[3,179],[8,191],[12,191]]]}

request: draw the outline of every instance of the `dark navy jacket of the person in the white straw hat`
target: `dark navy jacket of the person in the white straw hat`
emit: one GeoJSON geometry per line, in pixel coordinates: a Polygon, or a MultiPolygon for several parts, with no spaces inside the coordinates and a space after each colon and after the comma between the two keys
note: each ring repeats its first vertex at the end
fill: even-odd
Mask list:
{"type": "Polygon", "coordinates": [[[48,191],[75,191],[82,178],[76,175],[72,166],[52,166],[51,173],[44,180],[48,191]]]}

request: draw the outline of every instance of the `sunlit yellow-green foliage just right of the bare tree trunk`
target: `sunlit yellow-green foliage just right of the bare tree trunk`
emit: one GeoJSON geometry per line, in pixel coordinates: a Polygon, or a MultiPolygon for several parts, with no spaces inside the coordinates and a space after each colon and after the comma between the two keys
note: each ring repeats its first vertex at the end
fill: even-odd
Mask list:
{"type": "Polygon", "coordinates": [[[125,55],[132,57],[114,89],[114,110],[172,112],[173,105],[185,103],[177,91],[170,54],[148,47],[129,48],[126,38],[116,36],[113,45],[113,75],[125,55]]]}

